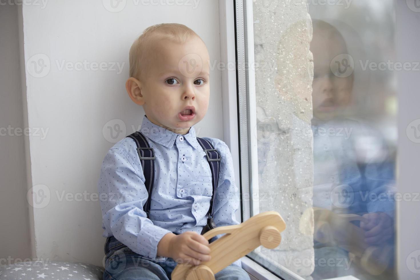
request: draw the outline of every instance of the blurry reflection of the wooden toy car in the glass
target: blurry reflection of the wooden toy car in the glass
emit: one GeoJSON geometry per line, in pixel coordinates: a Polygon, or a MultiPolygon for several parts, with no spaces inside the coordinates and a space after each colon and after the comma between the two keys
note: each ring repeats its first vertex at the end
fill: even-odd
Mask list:
{"type": "MultiPolygon", "coordinates": [[[[308,209],[308,213],[309,210],[312,211],[308,209]]],[[[364,230],[352,223],[362,221],[364,217],[356,214],[338,215],[317,207],[313,208],[313,215],[315,241],[348,251],[349,259],[353,259],[371,275],[379,275],[386,270],[391,260],[392,247],[371,246],[365,242],[364,230]]]]}

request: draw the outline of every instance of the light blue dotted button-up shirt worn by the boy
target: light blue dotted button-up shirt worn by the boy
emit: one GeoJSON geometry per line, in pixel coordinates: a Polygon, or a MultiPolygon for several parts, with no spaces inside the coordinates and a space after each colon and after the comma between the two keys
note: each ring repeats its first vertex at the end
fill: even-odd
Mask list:
{"type": "MultiPolygon", "coordinates": [[[[156,155],[150,217],[143,211],[147,190],[136,144],[126,137],[108,151],[102,162],[98,183],[102,236],[114,236],[146,258],[166,260],[157,256],[157,243],[166,233],[201,233],[207,223],[213,193],[210,165],[194,126],[185,135],[176,134],[155,125],[144,115],[140,132],[156,155]]],[[[237,225],[239,191],[231,153],[225,142],[204,138],[221,156],[213,219],[217,226],[237,225]]],[[[235,263],[241,264],[240,260],[235,263]]]]}

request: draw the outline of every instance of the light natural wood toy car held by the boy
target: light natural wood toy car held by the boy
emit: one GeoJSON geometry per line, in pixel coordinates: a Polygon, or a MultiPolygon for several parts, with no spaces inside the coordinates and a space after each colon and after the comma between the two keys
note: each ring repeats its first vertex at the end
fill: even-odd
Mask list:
{"type": "Polygon", "coordinates": [[[173,280],[214,280],[215,273],[262,245],[276,248],[281,242],[280,233],[286,224],[275,211],[263,212],[249,218],[240,225],[228,225],[207,231],[203,236],[210,238],[226,233],[210,243],[211,259],[199,265],[179,263],[171,274],[173,280]]]}

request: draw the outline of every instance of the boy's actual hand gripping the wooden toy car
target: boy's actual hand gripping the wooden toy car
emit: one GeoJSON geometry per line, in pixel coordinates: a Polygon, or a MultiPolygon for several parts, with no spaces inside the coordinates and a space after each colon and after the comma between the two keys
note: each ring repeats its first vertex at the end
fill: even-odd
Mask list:
{"type": "Polygon", "coordinates": [[[209,242],[200,234],[187,231],[173,236],[169,243],[169,254],[176,262],[198,265],[210,261],[209,242]]]}

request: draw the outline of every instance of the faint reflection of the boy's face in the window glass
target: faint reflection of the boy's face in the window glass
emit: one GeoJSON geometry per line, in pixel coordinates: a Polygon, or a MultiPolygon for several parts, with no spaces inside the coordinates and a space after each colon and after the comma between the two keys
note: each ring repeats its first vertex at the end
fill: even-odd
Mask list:
{"type": "Polygon", "coordinates": [[[352,92],[352,76],[338,77],[330,68],[330,63],[336,55],[346,53],[344,42],[328,35],[326,32],[314,30],[310,44],[314,58],[312,106],[314,118],[318,120],[333,119],[340,109],[349,105],[352,92]]]}

